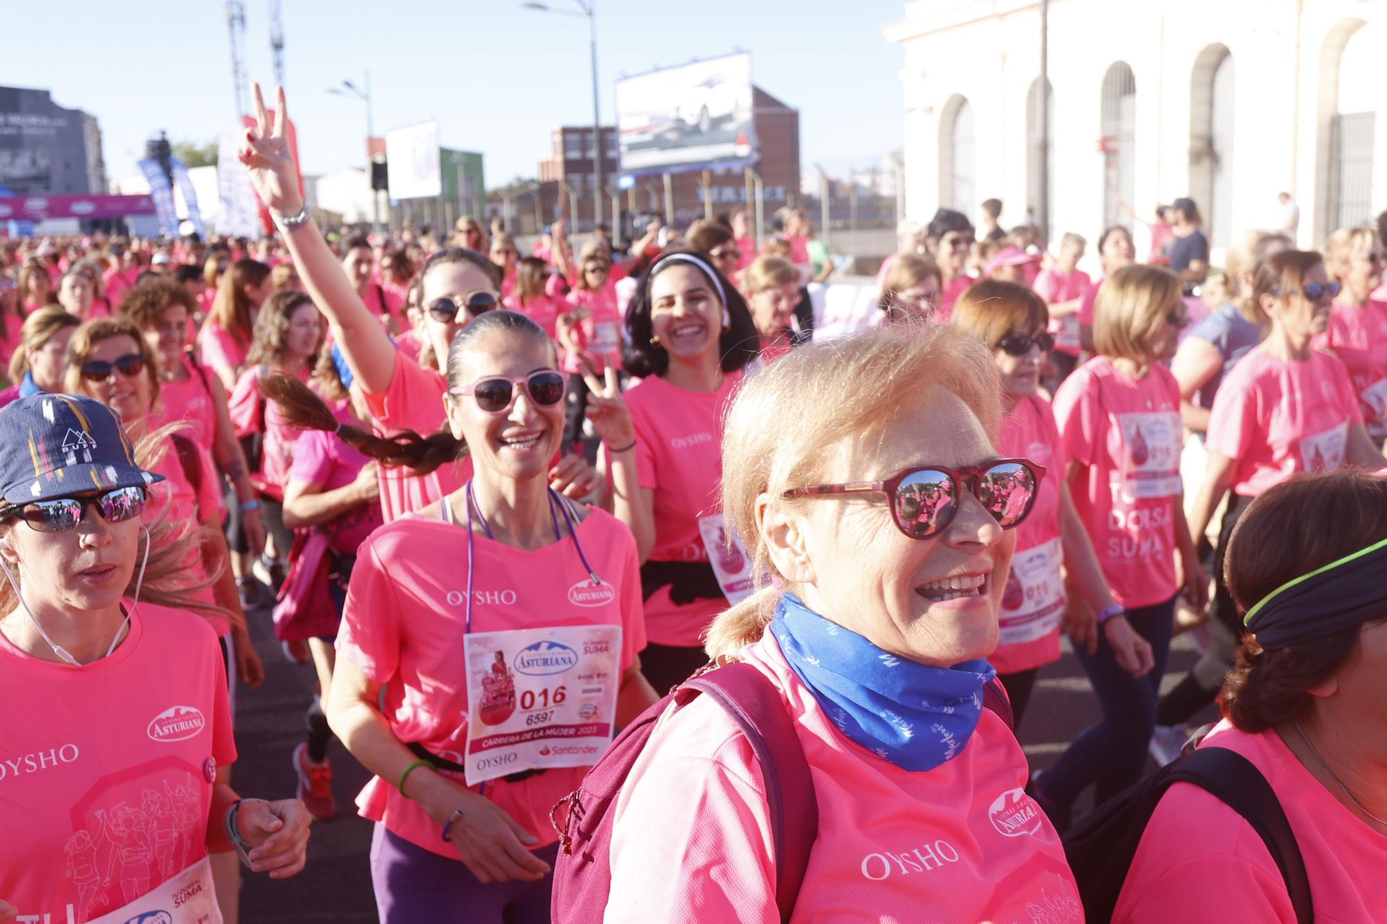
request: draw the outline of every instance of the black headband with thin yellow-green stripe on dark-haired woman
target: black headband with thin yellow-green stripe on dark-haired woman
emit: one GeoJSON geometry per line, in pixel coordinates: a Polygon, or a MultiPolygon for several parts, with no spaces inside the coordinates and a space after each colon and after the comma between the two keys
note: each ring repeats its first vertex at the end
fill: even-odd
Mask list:
{"type": "Polygon", "coordinates": [[[1290,580],[1247,610],[1243,624],[1272,651],[1387,616],[1387,540],[1290,580]]]}

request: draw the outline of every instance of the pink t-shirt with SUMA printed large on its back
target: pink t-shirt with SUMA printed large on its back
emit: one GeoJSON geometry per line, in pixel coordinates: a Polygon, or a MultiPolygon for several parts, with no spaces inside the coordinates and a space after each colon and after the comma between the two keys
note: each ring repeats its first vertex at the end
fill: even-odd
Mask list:
{"type": "Polygon", "coordinates": [[[1175,376],[1157,363],[1132,379],[1094,357],[1060,386],[1054,416],[1064,455],[1087,469],[1071,491],[1112,595],[1128,609],[1171,599],[1184,440],[1175,376]]]}

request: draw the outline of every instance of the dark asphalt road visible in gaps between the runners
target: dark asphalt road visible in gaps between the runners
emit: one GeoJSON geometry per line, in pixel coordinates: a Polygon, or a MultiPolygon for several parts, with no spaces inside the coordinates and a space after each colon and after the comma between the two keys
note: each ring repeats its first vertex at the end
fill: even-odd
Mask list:
{"type": "MultiPolygon", "coordinates": [[[[251,635],[265,660],[259,690],[241,690],[236,703],[236,745],[240,760],[233,782],[245,795],[284,798],[294,794],[290,753],[304,739],[304,709],[312,701],[315,676],[309,665],[291,665],[280,652],[268,612],[251,615],[251,635]]],[[[1171,648],[1164,688],[1178,683],[1197,655],[1187,635],[1171,648]]],[[[1214,709],[1200,721],[1209,721],[1214,709]]],[[[1078,660],[1068,653],[1044,667],[1032,695],[1018,737],[1032,767],[1046,767],[1083,728],[1097,720],[1099,709],[1078,660]]],[[[293,880],[275,881],[247,874],[241,893],[244,924],[302,924],[336,921],[374,924],[370,889],[372,824],[356,816],[354,799],[369,774],[333,742],[333,789],[337,817],[313,825],[308,869],[293,880]]],[[[1150,764],[1148,770],[1154,770],[1150,764]]]]}

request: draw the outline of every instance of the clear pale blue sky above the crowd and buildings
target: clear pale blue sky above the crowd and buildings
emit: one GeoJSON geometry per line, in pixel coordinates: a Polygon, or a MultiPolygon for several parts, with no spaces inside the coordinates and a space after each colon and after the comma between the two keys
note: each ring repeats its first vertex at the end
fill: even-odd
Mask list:
{"type": "MultiPolygon", "coordinates": [[[[800,111],[806,165],[879,158],[902,144],[903,55],[881,28],[903,14],[903,0],[596,0],[602,121],[621,75],[741,49],[800,111]]],[[[201,143],[234,125],[222,0],[4,3],[0,22],[0,86],[94,114],[112,179],[137,175],[160,129],[201,143]]],[[[365,107],[326,89],[366,68],[377,135],[437,119],[444,146],[485,154],[488,186],[534,176],[553,126],[592,119],[584,18],[519,0],[283,0],[283,26],[305,173],[363,162],[365,107]]],[[[245,0],[245,44],[250,78],[272,83],[269,0],[245,0]]]]}

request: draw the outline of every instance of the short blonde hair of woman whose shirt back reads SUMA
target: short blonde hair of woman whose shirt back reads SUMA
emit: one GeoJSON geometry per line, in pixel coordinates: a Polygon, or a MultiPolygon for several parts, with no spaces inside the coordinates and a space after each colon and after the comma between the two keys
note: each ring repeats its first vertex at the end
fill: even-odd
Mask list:
{"type": "Polygon", "coordinates": [[[1180,304],[1180,280],[1161,266],[1122,266],[1093,302],[1093,345],[1110,359],[1151,359],[1150,343],[1180,304]]]}

